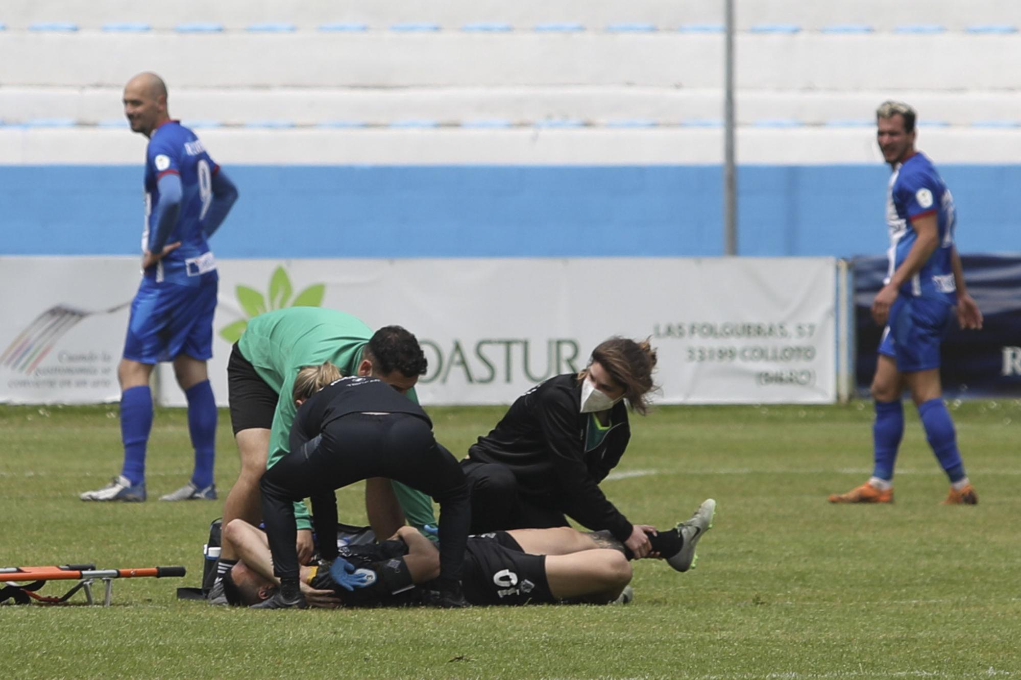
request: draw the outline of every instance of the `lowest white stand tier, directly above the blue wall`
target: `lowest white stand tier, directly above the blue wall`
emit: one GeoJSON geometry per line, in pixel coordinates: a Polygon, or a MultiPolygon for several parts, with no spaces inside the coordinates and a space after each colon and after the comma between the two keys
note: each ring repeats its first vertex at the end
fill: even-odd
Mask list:
{"type": "MultiPolygon", "coordinates": [[[[722,160],[720,128],[213,128],[218,162],[256,165],[702,165],[722,160]]],[[[942,166],[1016,164],[1021,128],[930,128],[920,148],[942,166]]],[[[738,161],[770,166],[867,164],[882,183],[872,128],[741,128],[738,161]]],[[[0,128],[3,165],[137,166],[145,139],[123,129],[0,128]]],[[[714,184],[714,186],[716,186],[714,184]]]]}

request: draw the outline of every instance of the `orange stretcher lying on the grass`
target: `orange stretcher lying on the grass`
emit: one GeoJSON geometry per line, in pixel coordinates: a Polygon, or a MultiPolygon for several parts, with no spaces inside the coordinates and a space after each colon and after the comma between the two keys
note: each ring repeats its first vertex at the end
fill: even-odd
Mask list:
{"type": "Polygon", "coordinates": [[[57,565],[52,567],[0,567],[0,604],[10,599],[14,604],[28,604],[33,599],[57,604],[65,602],[79,590],[85,592],[89,604],[93,604],[92,586],[96,580],[104,585],[103,606],[110,605],[113,591],[113,579],[130,579],[143,576],[163,578],[167,576],[185,576],[184,567],[149,567],[145,569],[96,569],[95,565],[57,565]],[[30,581],[25,585],[17,585],[30,581]],[[70,590],[57,597],[40,595],[36,591],[46,585],[47,581],[78,581],[70,590]]]}

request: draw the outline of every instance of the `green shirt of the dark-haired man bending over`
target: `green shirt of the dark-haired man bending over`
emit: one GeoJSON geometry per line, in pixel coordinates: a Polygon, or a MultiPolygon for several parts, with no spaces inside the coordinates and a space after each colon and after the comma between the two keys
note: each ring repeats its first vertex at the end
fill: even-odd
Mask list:
{"type": "MultiPolygon", "coordinates": [[[[362,348],[372,337],[372,329],[360,319],[324,307],[288,307],[259,314],[248,322],[238,340],[238,349],[259,378],[280,395],[273,415],[266,468],[272,468],[291,450],[291,425],[297,414],[292,392],[298,372],[306,366],[330,361],[340,369],[342,376],[353,376],[361,362],[362,348]]],[[[419,402],[414,389],[407,391],[407,397],[419,402]]],[[[398,493],[398,499],[403,500],[400,495],[398,493]]],[[[298,527],[309,528],[307,511],[303,503],[299,504],[298,527]]],[[[412,514],[407,507],[404,509],[410,521],[412,514]]],[[[426,519],[422,523],[429,521],[426,519]]]]}

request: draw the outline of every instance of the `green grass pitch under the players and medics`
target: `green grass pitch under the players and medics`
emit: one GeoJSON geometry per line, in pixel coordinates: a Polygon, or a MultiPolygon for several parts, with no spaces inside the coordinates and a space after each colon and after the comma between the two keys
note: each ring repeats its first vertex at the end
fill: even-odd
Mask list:
{"type": "MultiPolygon", "coordinates": [[[[458,455],[502,411],[430,410],[458,455]]],[[[868,403],[636,417],[606,494],[661,526],[706,497],[719,511],[698,568],[636,563],[627,606],[250,612],[175,599],[222,507],[155,500],[191,469],[183,411],[156,415],[150,500],[104,504],[78,494],[119,470],[115,405],[0,406],[0,566],[190,570],[115,581],[109,609],[0,608],[0,678],[1021,678],[1021,401],[952,407],[977,506],[939,504],[946,481],[906,412],[888,506],[826,502],[871,470],[868,403]]],[[[217,444],[223,499],[226,411],[217,444]]],[[[363,521],[360,487],[338,498],[363,521]]]]}

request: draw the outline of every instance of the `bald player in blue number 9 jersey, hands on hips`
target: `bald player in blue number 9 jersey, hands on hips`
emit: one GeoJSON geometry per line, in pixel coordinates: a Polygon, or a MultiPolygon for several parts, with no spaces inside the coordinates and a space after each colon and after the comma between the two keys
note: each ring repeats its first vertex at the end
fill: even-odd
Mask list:
{"type": "Polygon", "coordinates": [[[237,189],[195,134],[172,120],[166,86],[139,74],[124,92],[133,132],[149,139],[145,163],[142,283],[131,306],[120,381],[120,475],[82,500],[145,500],[145,448],[152,427],[149,376],[157,361],[174,361],[188,398],[188,429],[195,447],[191,480],[160,500],[215,499],[212,480],[216,403],[206,360],[212,356],[212,314],[218,276],[206,240],[227,216],[237,189]]]}

